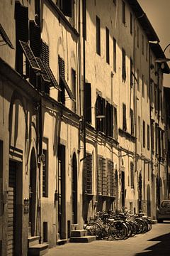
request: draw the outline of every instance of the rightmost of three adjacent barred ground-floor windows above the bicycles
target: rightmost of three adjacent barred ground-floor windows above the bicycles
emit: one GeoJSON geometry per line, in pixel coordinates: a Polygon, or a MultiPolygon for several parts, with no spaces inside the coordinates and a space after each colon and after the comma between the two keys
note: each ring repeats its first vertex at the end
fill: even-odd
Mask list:
{"type": "Polygon", "coordinates": [[[107,161],[107,195],[115,197],[115,173],[113,161],[107,161]]]}

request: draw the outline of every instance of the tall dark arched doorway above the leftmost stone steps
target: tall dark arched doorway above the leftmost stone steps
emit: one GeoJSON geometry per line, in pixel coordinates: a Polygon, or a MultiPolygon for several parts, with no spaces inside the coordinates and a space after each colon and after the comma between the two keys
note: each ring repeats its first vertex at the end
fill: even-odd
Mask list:
{"type": "Polygon", "coordinates": [[[35,149],[32,149],[30,156],[30,182],[29,182],[29,235],[35,235],[35,215],[36,215],[36,181],[37,181],[37,170],[36,170],[36,158],[35,149]]]}

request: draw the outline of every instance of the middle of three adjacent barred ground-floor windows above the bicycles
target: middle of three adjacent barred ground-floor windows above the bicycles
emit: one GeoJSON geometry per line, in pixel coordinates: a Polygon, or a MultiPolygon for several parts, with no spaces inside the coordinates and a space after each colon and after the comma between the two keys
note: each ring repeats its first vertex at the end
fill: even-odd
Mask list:
{"type": "Polygon", "coordinates": [[[98,156],[98,195],[107,196],[107,176],[106,176],[106,159],[103,156],[98,156]]]}

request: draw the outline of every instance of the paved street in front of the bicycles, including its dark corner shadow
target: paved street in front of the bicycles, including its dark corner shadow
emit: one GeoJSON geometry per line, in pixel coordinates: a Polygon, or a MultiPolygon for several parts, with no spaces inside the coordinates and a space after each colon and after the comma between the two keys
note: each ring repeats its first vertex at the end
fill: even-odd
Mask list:
{"type": "MultiPolygon", "coordinates": [[[[170,222],[155,224],[149,233],[128,240],[67,243],[48,251],[49,256],[169,256],[170,222]]],[[[45,256],[46,256],[45,255],[45,256]]]]}

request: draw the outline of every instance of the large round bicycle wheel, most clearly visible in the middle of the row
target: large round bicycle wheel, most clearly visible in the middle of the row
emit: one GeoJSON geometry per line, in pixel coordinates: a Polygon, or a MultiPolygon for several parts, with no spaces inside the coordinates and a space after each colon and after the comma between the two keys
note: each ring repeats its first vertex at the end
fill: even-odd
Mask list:
{"type": "Polygon", "coordinates": [[[109,233],[115,240],[123,240],[127,235],[128,229],[125,223],[121,223],[120,221],[115,221],[112,223],[109,233]]]}

